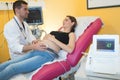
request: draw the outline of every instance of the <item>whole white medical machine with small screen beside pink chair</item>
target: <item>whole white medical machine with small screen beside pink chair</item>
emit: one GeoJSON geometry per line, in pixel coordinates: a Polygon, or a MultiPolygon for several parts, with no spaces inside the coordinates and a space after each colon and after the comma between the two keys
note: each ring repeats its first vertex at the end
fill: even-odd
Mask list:
{"type": "Polygon", "coordinates": [[[94,35],[86,62],[86,75],[120,80],[119,35],[94,35]]]}

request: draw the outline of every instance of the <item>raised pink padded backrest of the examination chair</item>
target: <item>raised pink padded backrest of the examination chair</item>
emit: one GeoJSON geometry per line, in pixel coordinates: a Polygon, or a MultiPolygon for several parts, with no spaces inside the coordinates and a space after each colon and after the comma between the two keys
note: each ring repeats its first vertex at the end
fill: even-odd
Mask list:
{"type": "Polygon", "coordinates": [[[84,33],[79,36],[76,41],[76,47],[72,53],[67,55],[67,61],[70,63],[72,67],[74,67],[82,57],[82,52],[88,48],[90,43],[92,42],[92,37],[96,34],[102,26],[102,21],[100,18],[97,18],[94,22],[92,22],[84,33]]]}

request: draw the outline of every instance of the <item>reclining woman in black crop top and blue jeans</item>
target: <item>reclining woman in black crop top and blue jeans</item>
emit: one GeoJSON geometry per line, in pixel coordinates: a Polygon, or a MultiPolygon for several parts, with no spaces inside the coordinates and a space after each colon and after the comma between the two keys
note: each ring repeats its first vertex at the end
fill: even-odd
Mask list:
{"type": "Polygon", "coordinates": [[[40,41],[46,45],[45,51],[33,50],[20,58],[0,64],[0,80],[8,80],[16,74],[31,72],[42,64],[53,61],[61,49],[71,53],[75,46],[76,25],[77,21],[73,16],[66,16],[62,31],[52,31],[40,41]]]}

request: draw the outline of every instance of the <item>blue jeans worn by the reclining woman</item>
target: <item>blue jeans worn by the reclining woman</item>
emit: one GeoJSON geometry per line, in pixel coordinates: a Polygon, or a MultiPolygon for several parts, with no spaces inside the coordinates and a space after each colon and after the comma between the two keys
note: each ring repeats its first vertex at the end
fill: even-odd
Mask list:
{"type": "Polygon", "coordinates": [[[8,80],[20,73],[28,73],[39,68],[42,64],[53,61],[54,54],[47,51],[32,51],[15,60],[0,64],[0,80],[8,80]]]}

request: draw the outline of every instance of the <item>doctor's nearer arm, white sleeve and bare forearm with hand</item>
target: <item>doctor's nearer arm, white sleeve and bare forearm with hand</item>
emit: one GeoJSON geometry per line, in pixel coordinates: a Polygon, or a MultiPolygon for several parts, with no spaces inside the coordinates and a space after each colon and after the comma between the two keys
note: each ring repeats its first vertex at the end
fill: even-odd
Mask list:
{"type": "Polygon", "coordinates": [[[9,49],[17,54],[22,54],[22,52],[26,52],[29,50],[43,50],[43,48],[41,48],[41,46],[39,46],[39,44],[41,45],[41,43],[39,44],[31,44],[31,45],[23,45],[20,43],[20,33],[19,30],[17,30],[17,27],[15,27],[16,29],[12,29],[11,28],[12,25],[6,25],[4,28],[4,36],[8,42],[8,47],[9,49]],[[10,26],[10,27],[8,27],[10,26]],[[40,49],[38,48],[40,47],[40,49]]]}

